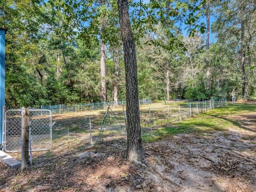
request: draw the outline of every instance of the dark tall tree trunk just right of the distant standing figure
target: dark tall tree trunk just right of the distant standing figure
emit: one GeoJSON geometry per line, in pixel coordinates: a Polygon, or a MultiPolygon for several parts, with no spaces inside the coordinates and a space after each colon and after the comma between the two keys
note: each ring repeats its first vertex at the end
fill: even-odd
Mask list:
{"type": "Polygon", "coordinates": [[[241,73],[242,73],[242,93],[245,90],[245,43],[244,43],[244,21],[241,22],[241,73]]]}

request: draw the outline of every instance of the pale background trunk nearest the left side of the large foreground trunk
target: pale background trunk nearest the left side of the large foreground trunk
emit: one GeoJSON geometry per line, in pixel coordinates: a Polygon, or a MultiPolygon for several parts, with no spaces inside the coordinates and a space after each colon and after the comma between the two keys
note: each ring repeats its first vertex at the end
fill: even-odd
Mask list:
{"type": "Polygon", "coordinates": [[[118,105],[118,78],[119,78],[119,50],[114,48],[113,51],[114,66],[115,66],[115,79],[114,79],[114,102],[118,105]]]}

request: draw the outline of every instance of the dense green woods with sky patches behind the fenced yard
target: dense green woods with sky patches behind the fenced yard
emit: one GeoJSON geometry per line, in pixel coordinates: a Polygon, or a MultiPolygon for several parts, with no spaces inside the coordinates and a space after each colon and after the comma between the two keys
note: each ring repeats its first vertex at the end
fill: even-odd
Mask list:
{"type": "MultiPolygon", "coordinates": [[[[0,26],[8,29],[6,102],[12,107],[125,99],[117,2],[82,2],[0,0],[0,26]]],[[[186,26],[183,14],[190,10],[178,3],[129,5],[139,98],[230,98],[233,88],[238,98],[255,98],[255,2],[191,4],[197,20],[186,26]],[[204,28],[191,30],[200,22],[204,28]]]]}

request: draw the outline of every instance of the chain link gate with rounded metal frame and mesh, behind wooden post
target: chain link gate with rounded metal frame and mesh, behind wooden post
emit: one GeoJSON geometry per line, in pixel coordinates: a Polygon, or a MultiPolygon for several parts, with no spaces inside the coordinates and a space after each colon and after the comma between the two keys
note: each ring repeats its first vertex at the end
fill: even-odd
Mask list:
{"type": "MultiPolygon", "coordinates": [[[[21,152],[22,110],[7,110],[4,120],[4,150],[21,152]]],[[[52,148],[52,112],[50,110],[29,110],[30,153],[52,148]]]]}

